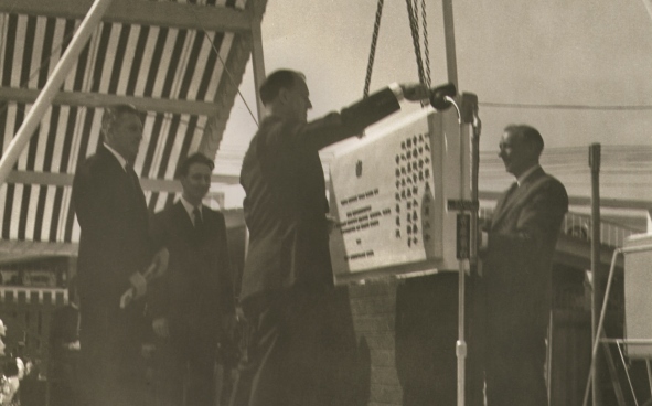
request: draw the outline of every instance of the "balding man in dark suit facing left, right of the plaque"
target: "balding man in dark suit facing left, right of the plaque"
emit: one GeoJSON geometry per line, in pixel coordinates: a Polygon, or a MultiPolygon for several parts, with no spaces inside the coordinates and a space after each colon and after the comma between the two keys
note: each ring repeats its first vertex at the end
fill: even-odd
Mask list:
{"type": "MultiPolygon", "coordinates": [[[[547,406],[544,378],[552,261],[568,195],[538,163],[544,141],[507,126],[499,157],[516,182],[487,224],[482,279],[488,406],[547,406]]],[[[483,244],[484,246],[484,244],[483,244]]]]}

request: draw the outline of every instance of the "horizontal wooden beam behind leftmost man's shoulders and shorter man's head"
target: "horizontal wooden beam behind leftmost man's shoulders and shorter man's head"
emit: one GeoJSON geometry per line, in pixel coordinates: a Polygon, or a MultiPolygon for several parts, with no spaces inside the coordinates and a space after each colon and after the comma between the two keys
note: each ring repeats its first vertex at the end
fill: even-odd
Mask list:
{"type": "MultiPolygon", "coordinates": [[[[31,171],[12,171],[7,177],[7,183],[39,184],[46,186],[72,186],[74,174],[31,171]]],[[[211,183],[237,184],[238,175],[213,174],[211,183]]],[[[151,192],[180,192],[181,185],[174,180],[141,178],[142,189],[151,192]]]]}

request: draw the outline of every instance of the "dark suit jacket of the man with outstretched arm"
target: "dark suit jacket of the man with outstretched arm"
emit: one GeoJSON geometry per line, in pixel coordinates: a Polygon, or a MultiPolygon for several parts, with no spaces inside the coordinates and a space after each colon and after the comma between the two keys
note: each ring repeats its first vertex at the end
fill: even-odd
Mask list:
{"type": "Polygon", "coordinates": [[[241,299],[297,284],[332,285],[328,202],[318,151],[399,108],[386,88],[311,122],[274,116],[263,120],[241,172],[250,233],[241,299]]]}

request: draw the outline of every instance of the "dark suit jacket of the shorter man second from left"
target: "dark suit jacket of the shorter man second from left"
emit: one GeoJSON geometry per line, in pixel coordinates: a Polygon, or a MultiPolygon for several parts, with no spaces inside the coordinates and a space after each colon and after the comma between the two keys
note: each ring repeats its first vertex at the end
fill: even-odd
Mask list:
{"type": "Polygon", "coordinates": [[[157,247],[167,247],[167,273],[148,295],[148,311],[165,317],[171,333],[209,330],[217,334],[223,314],[234,314],[235,302],[224,215],[202,207],[203,226],[194,225],[179,201],[152,218],[157,247]]]}

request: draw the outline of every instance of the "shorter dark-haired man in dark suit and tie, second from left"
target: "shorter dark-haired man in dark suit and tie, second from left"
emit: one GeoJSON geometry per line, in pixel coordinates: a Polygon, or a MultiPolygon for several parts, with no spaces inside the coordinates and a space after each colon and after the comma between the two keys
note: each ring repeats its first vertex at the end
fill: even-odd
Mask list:
{"type": "Polygon", "coordinates": [[[213,167],[201,153],[186,158],[177,173],[181,199],[152,220],[154,244],[170,252],[168,271],[149,292],[153,330],[172,355],[163,381],[169,405],[215,405],[217,345],[235,320],[224,215],[202,204],[213,167]]]}

